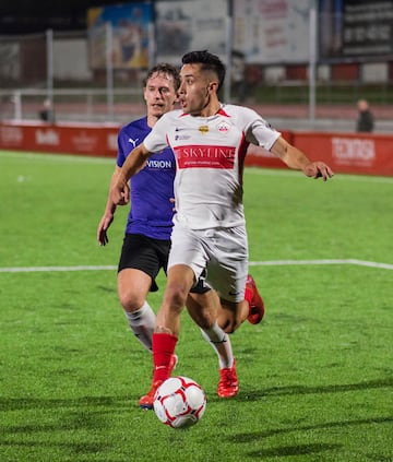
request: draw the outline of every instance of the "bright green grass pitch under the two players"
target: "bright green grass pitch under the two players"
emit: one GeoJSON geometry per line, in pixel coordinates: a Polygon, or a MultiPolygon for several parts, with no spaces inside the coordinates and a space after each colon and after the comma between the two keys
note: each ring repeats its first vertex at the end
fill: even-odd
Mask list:
{"type": "MultiPolygon", "coordinates": [[[[109,246],[95,241],[112,168],[0,153],[0,269],[116,265],[126,209],[109,246]]],[[[128,330],[116,271],[0,272],[0,461],[392,461],[391,266],[259,264],[392,264],[392,186],[246,169],[250,271],[266,316],[233,335],[240,392],[222,401],[217,359],[183,315],[177,374],[207,395],[188,430],[138,407],[152,362],[128,330]]]]}

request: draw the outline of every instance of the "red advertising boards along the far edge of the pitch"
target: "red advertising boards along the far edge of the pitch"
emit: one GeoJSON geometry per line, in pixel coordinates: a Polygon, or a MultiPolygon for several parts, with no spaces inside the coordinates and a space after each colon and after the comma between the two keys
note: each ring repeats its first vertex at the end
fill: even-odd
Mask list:
{"type": "MultiPolygon", "coordinates": [[[[0,123],[0,149],[116,157],[119,125],[0,123]]],[[[335,173],[393,176],[393,137],[366,133],[282,132],[311,161],[335,173]]],[[[250,146],[247,166],[286,168],[272,153],[250,146]]]]}

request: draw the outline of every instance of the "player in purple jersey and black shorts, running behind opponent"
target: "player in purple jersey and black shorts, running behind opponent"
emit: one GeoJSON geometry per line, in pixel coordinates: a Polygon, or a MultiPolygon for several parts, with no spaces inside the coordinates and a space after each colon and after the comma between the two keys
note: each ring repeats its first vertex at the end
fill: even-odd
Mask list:
{"type": "MultiPolygon", "coordinates": [[[[144,141],[164,114],[174,109],[179,85],[178,71],[170,64],[157,64],[148,72],[144,87],[147,116],[132,121],[119,131],[117,165],[110,188],[116,183],[121,166],[132,149],[144,141]]],[[[118,294],[128,323],[142,345],[151,352],[156,316],[146,298],[148,292],[157,291],[155,277],[160,269],[166,270],[167,266],[172,230],[174,204],[170,198],[174,197],[175,171],[174,153],[166,149],[150,157],[144,168],[132,179],[131,210],[118,266],[118,294]]],[[[107,230],[115,212],[116,204],[109,194],[97,228],[97,240],[102,246],[108,244],[107,230]]],[[[247,296],[247,318],[251,323],[258,323],[263,317],[263,301],[251,276],[247,296]]],[[[218,355],[218,395],[234,396],[239,388],[236,365],[228,334],[217,323],[217,312],[221,311],[217,294],[201,277],[190,289],[186,305],[203,336],[218,355]]],[[[224,328],[231,324],[225,312],[221,312],[218,319],[224,328]]],[[[177,356],[171,354],[168,359],[170,375],[177,356]]],[[[141,406],[152,407],[150,403],[141,403],[141,406]]]]}

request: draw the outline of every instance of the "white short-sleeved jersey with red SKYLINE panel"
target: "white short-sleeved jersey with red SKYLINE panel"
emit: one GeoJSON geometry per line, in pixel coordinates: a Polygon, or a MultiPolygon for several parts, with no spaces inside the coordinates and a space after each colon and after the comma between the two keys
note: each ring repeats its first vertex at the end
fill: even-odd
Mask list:
{"type": "Polygon", "coordinates": [[[193,117],[182,110],[165,114],[143,143],[150,152],[169,145],[175,153],[174,222],[192,229],[242,225],[247,147],[252,143],[269,151],[279,134],[242,106],[223,105],[211,117],[193,117]]]}

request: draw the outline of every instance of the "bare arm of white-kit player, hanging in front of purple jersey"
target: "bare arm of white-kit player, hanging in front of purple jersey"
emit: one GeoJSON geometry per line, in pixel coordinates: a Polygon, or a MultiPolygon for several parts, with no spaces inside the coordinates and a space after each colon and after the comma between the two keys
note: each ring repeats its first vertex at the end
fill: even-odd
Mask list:
{"type": "Polygon", "coordinates": [[[130,202],[129,179],[143,168],[151,155],[144,143],[131,151],[110,189],[109,199],[112,204],[126,205],[130,202]]]}

